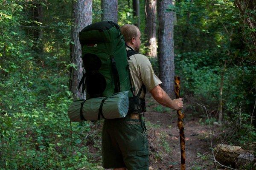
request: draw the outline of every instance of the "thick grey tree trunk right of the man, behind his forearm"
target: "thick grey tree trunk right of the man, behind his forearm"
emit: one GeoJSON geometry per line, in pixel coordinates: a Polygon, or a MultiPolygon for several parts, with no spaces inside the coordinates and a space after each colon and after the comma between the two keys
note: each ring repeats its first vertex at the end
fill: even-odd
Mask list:
{"type": "Polygon", "coordinates": [[[172,4],[172,0],[157,1],[158,57],[159,77],[163,82],[161,86],[171,98],[174,98],[174,12],[166,11],[170,4],[172,4]]]}

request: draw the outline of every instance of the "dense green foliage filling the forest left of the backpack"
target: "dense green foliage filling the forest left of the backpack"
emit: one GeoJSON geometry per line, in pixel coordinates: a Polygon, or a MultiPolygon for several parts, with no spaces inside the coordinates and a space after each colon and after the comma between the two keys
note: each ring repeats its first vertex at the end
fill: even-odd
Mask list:
{"type": "Polygon", "coordinates": [[[98,170],[87,141],[94,136],[98,142],[99,135],[85,122],[72,123],[71,136],[67,117],[71,3],[15,0],[0,6],[0,169],[98,170]],[[41,22],[33,16],[39,5],[41,22]]]}

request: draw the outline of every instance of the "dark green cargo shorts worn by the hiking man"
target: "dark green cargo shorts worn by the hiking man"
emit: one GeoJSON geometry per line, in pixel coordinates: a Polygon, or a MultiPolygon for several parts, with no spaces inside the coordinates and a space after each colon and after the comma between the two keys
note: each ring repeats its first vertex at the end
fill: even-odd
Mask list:
{"type": "Polygon", "coordinates": [[[105,119],[102,130],[104,168],[127,167],[127,170],[148,170],[148,139],[143,121],[105,119]]]}

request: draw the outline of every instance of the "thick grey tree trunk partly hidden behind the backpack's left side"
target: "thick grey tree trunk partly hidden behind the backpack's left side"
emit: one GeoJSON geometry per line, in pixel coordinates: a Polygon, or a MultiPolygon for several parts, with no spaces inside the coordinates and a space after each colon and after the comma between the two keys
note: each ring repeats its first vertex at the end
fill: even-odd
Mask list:
{"type": "Polygon", "coordinates": [[[71,63],[75,64],[77,68],[70,68],[70,91],[73,93],[74,99],[85,99],[85,94],[81,94],[78,89],[83,71],[81,45],[78,35],[85,26],[92,23],[92,0],[73,1],[72,17],[74,25],[71,28],[71,39],[74,44],[71,44],[71,63]]]}

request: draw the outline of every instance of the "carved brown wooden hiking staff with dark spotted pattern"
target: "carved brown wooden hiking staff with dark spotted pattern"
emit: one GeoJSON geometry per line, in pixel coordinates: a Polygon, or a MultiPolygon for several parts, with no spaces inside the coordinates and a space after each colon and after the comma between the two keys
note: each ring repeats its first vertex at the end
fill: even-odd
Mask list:
{"type": "MultiPolygon", "coordinates": [[[[180,77],[175,76],[175,96],[176,99],[180,98],[180,77]]],[[[181,112],[181,109],[177,111],[178,114],[178,127],[180,131],[180,170],[185,170],[185,133],[184,133],[184,125],[183,125],[183,119],[184,114],[181,112]]]]}

